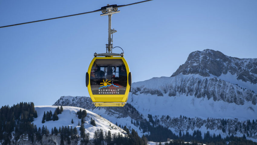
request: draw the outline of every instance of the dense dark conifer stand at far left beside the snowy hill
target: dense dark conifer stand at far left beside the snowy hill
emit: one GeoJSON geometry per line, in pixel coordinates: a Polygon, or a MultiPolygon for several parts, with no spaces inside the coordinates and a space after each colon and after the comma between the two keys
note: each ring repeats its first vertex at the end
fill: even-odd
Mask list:
{"type": "Polygon", "coordinates": [[[13,131],[15,131],[15,139],[18,139],[21,134],[28,134],[31,139],[33,136],[31,122],[34,118],[37,118],[37,111],[34,109],[33,102],[21,102],[11,107],[2,106],[0,109],[0,140],[3,140],[3,144],[9,144],[13,131]]]}

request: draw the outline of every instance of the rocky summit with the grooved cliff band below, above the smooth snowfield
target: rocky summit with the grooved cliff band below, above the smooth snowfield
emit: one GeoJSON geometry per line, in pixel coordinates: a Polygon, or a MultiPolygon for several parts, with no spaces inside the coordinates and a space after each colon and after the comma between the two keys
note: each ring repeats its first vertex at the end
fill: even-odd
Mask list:
{"type": "Polygon", "coordinates": [[[132,93],[157,96],[168,93],[170,97],[185,94],[237,105],[250,101],[256,105],[256,83],[257,59],[239,59],[219,51],[203,50],[190,53],[187,61],[170,78],[133,83],[132,93]],[[226,78],[228,76],[232,79],[226,78]]]}

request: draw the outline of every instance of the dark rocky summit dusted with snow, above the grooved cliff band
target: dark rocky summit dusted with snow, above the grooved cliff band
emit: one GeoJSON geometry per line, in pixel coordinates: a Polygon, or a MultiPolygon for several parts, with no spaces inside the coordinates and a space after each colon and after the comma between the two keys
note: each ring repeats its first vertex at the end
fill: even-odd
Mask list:
{"type": "Polygon", "coordinates": [[[210,74],[220,76],[230,72],[237,76],[238,80],[257,83],[257,59],[239,59],[226,56],[220,51],[203,50],[189,54],[187,61],[179,66],[172,76],[178,74],[199,74],[209,77],[210,74]]]}

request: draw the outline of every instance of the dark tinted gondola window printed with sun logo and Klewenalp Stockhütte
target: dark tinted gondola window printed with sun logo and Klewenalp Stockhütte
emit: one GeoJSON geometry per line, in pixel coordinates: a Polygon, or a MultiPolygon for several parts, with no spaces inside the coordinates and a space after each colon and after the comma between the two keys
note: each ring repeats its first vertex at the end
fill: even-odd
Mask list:
{"type": "Polygon", "coordinates": [[[93,95],[124,95],[127,71],[122,59],[96,59],[90,72],[93,95]]]}

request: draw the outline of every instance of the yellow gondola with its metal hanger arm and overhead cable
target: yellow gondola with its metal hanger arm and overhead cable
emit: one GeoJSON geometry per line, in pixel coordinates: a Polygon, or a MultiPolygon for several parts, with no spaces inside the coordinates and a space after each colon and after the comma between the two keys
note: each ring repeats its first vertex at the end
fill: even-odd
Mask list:
{"type": "MultiPolygon", "coordinates": [[[[148,2],[152,0],[145,0],[142,2],[148,2]]],[[[142,2],[135,2],[128,5],[134,5],[142,2]]],[[[131,89],[131,72],[129,71],[129,66],[124,59],[123,53],[112,53],[111,35],[117,32],[111,29],[111,17],[112,14],[119,13],[119,7],[124,7],[128,5],[107,5],[99,10],[89,11],[80,14],[88,14],[97,11],[102,11],[103,14],[100,16],[108,15],[109,17],[109,28],[108,28],[108,44],[106,44],[106,53],[94,53],[94,58],[89,64],[88,71],[86,72],[86,86],[88,88],[89,95],[95,106],[121,106],[123,107],[129,96],[131,89]]],[[[67,16],[61,16],[56,18],[49,18],[38,21],[31,21],[26,23],[19,23],[3,27],[16,26],[21,24],[28,24],[40,21],[53,20],[58,18],[65,18],[70,16],[76,16],[80,14],[72,14],[67,16]]],[[[119,47],[121,48],[121,47],[119,47]]],[[[122,48],[121,48],[122,49],[122,48]]]]}

